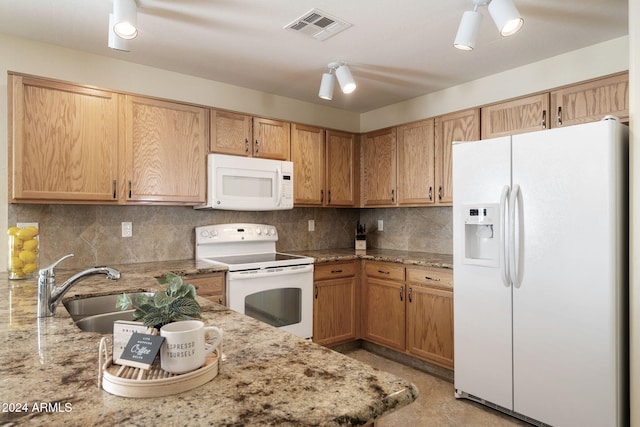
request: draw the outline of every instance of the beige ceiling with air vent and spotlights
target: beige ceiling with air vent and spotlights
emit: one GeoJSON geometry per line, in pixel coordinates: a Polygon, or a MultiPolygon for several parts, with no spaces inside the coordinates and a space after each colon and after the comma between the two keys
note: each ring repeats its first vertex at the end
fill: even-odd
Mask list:
{"type": "Polygon", "coordinates": [[[0,0],[0,32],[354,112],[628,34],[627,0],[514,1],[523,29],[500,37],[480,8],[472,52],[452,46],[472,0],[136,0],[130,52],[107,47],[112,0],[0,0]],[[325,41],[283,29],[311,9],[352,26],[325,41]],[[321,100],[336,60],[358,88],[321,100]]]}

